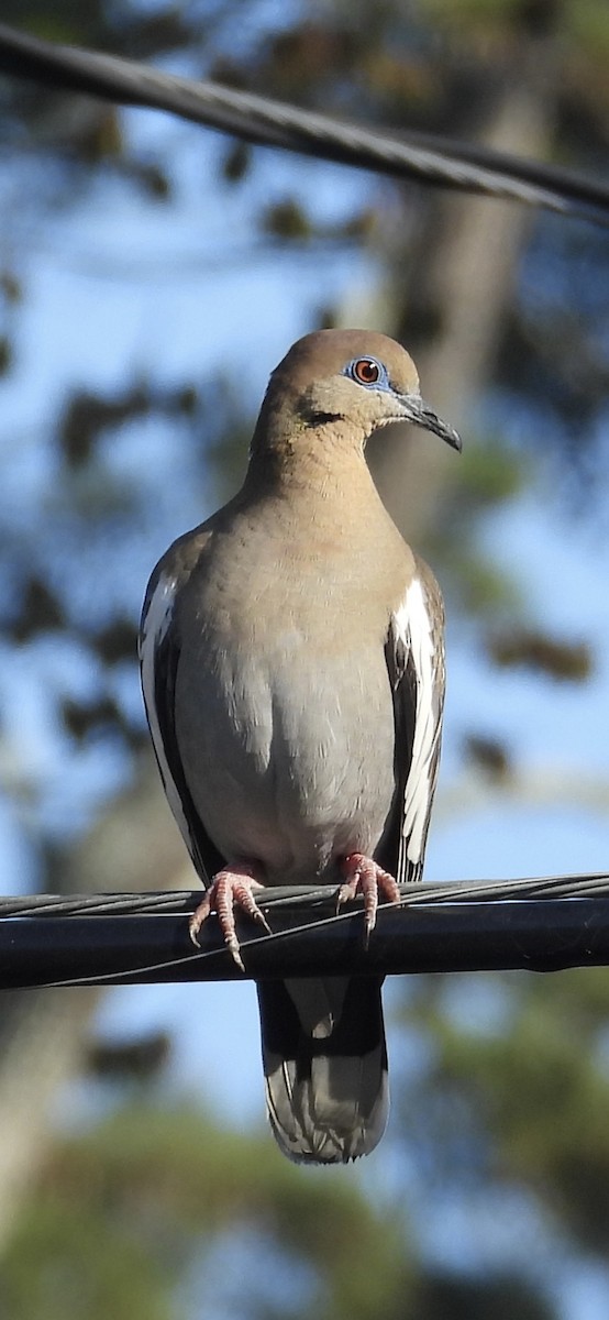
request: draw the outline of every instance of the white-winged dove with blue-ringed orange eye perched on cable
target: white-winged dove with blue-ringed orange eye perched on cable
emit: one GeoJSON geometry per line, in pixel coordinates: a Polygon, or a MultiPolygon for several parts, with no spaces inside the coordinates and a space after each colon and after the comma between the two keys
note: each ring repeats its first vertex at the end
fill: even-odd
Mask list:
{"type": "MultiPolygon", "coordinates": [[[[420,878],[444,700],[443,605],[369,475],[372,432],[409,421],[460,449],[385,335],[322,330],[270,378],[244,484],[154,569],[140,657],[165,792],[240,961],[233,907],[261,884],[378,895],[420,878]]],[[[266,1100],[291,1159],[380,1140],[381,981],[258,985],[266,1100]]]]}

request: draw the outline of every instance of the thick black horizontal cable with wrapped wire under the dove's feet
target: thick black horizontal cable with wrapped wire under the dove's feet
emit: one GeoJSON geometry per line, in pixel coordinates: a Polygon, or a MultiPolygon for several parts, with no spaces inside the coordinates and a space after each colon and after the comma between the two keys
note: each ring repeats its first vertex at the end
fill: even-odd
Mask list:
{"type": "MultiPolygon", "coordinates": [[[[364,948],[361,903],[336,912],[336,888],[258,896],[273,933],[239,917],[246,975],[406,974],[609,964],[609,876],[402,886],[364,948]]],[[[215,919],[188,936],[200,890],[40,895],[0,906],[0,986],[243,979],[215,919]]]]}

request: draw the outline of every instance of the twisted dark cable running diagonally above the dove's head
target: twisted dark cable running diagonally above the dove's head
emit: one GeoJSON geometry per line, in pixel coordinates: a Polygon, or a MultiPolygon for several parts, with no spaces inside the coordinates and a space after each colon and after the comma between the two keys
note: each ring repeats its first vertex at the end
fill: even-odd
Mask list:
{"type": "Polygon", "coordinates": [[[265,147],[316,156],[394,178],[488,193],[609,224],[609,186],[569,170],[427,133],[362,128],[214,82],[62,46],[0,24],[0,73],[65,91],[146,106],[265,147]]]}

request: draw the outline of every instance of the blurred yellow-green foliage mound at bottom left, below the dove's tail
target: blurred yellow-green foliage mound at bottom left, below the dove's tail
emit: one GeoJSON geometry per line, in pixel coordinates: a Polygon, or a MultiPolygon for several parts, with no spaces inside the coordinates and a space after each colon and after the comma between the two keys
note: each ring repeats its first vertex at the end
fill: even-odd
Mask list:
{"type": "Polygon", "coordinates": [[[303,1180],[268,1143],[266,1133],[240,1137],[195,1109],[142,1098],[58,1139],[5,1253],[0,1309],[55,1320],[78,1298],[83,1320],[186,1316],[192,1272],[195,1313],[211,1315],[221,1296],[210,1296],[206,1265],[228,1236],[253,1233],[262,1267],[240,1315],[276,1313],[261,1308],[286,1266],[310,1279],[290,1316],[401,1313],[414,1279],[401,1225],[353,1180],[303,1180]]]}

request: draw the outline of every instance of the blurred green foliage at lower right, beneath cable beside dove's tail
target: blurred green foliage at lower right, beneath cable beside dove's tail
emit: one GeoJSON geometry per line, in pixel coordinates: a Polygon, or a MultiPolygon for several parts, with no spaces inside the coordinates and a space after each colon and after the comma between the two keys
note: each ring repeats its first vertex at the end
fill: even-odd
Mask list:
{"type": "MultiPolygon", "coordinates": [[[[461,981],[461,1003],[480,977],[461,981]]],[[[428,1068],[417,1080],[417,1100],[401,1104],[424,1115],[418,1127],[419,1158],[460,1148],[467,1179],[489,1197],[501,1189],[534,1195],[539,1213],[563,1233],[563,1250],[606,1257],[609,1247],[609,1074],[605,969],[523,978],[484,977],[492,1011],[485,1026],[447,1011],[442,978],[423,978],[413,1023],[434,1039],[428,1068]],[[442,1100],[439,1096],[442,1094],[442,1100]],[[450,1130],[447,1115],[452,1115],[450,1130]],[[468,1158],[475,1140],[476,1160],[468,1158]]],[[[473,1002],[473,1001],[472,1001],[473,1002]]],[[[436,1160],[434,1160],[434,1164],[436,1160]]],[[[447,1187],[448,1192],[448,1187],[447,1187]]]]}

